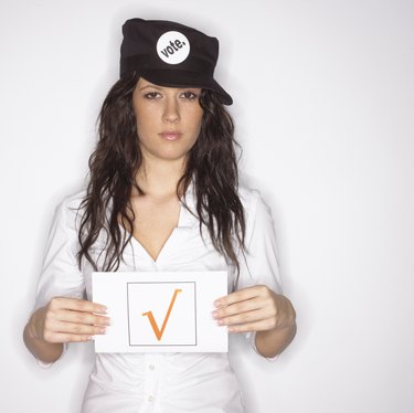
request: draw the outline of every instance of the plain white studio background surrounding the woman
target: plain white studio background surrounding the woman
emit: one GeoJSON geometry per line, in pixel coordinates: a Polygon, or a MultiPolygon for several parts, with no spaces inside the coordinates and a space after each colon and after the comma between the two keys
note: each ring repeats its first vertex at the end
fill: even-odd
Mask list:
{"type": "Polygon", "coordinates": [[[413,1],[0,7],[1,412],[79,409],[91,349],[41,370],[21,331],[54,206],[84,182],[131,17],[219,36],[242,167],[273,208],[298,335],[274,363],[234,340],[248,412],[414,411],[413,1]]]}

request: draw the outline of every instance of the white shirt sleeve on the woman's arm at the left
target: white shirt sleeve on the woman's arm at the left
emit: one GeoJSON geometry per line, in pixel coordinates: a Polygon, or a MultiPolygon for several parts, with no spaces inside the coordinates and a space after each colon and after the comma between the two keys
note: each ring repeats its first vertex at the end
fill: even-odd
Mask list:
{"type": "MultiPolygon", "coordinates": [[[[84,298],[84,277],[76,261],[75,219],[76,210],[71,209],[66,202],[56,208],[49,232],[33,311],[47,305],[53,297],[84,298]]],[[[67,345],[63,348],[65,351],[67,345]]],[[[41,360],[38,360],[38,363],[43,368],[53,364],[41,360]]]]}

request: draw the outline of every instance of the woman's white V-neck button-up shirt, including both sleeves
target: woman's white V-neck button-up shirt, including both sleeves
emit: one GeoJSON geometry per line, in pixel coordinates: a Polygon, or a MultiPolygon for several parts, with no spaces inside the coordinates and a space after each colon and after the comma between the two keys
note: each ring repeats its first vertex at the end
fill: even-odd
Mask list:
{"type": "MultiPolygon", "coordinates": [[[[84,195],[81,192],[70,197],[56,209],[35,308],[55,296],[84,298],[86,295],[92,300],[93,268],[84,261],[79,271],[76,263],[77,208],[84,195]]],[[[201,237],[199,221],[183,205],[178,226],[157,261],[132,237],[118,271],[227,271],[229,292],[265,284],[280,293],[270,211],[257,191],[240,189],[240,197],[245,209],[247,254],[246,258],[238,257],[238,279],[234,268],[212,246],[208,231],[203,231],[204,240],[201,237]]],[[[193,210],[191,191],[185,202],[193,210]]],[[[105,239],[98,239],[95,257],[104,246],[105,239]]],[[[246,336],[255,348],[254,333],[246,336]]],[[[243,399],[227,353],[97,353],[82,412],[242,413],[243,399]]]]}

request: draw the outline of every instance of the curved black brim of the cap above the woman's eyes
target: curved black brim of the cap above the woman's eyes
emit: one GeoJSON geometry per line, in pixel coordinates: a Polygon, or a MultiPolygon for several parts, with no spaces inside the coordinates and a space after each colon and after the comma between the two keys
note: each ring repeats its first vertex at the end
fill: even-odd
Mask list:
{"type": "Polygon", "coordinates": [[[219,94],[219,99],[223,105],[232,105],[232,96],[211,77],[201,76],[199,73],[182,70],[140,70],[139,75],[148,82],[167,87],[201,87],[214,91],[219,94]]]}

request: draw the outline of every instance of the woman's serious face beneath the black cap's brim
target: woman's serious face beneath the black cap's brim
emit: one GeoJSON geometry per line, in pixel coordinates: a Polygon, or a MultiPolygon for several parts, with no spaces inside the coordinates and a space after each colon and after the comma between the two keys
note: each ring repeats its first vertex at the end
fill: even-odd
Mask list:
{"type": "Polygon", "coordinates": [[[142,77],[132,95],[144,159],[185,160],[201,128],[200,88],[158,86],[142,77]]]}

